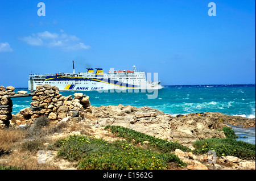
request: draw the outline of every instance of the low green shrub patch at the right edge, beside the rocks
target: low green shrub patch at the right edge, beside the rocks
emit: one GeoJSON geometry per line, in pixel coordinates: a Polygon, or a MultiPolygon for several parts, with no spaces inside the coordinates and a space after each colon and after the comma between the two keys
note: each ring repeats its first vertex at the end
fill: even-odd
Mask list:
{"type": "Polygon", "coordinates": [[[232,155],[241,159],[255,160],[255,145],[244,141],[237,141],[233,129],[222,128],[226,138],[210,138],[206,140],[197,140],[194,142],[193,150],[195,154],[207,154],[209,150],[214,150],[218,157],[232,155]]]}

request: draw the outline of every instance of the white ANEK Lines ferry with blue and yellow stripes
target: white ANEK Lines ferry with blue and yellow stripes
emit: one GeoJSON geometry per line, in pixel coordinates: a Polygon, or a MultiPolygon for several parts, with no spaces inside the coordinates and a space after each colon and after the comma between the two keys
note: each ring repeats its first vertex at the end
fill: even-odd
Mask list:
{"type": "Polygon", "coordinates": [[[114,70],[108,74],[102,68],[88,68],[86,72],[75,73],[73,61],[73,73],[55,74],[30,74],[28,78],[28,90],[35,91],[36,86],[49,84],[56,86],[60,91],[90,91],[110,89],[161,89],[160,81],[146,81],[144,71],[114,70]]]}

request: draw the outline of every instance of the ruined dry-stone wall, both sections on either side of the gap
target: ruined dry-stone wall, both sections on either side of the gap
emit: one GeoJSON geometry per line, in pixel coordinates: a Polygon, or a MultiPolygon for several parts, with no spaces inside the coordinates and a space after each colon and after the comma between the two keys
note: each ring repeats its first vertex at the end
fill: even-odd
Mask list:
{"type": "MultiPolygon", "coordinates": [[[[0,128],[8,127],[10,120],[13,118],[11,112],[13,103],[9,96],[15,95],[14,87],[0,86],[0,128]]],[[[26,94],[26,92],[18,91],[17,94],[26,94]]],[[[15,115],[14,124],[32,124],[35,119],[40,116],[47,116],[51,121],[60,121],[65,117],[81,120],[84,117],[83,111],[90,106],[89,96],[82,93],[63,96],[59,92],[59,88],[51,85],[36,86],[35,95],[31,98],[30,107],[20,110],[15,115]]],[[[15,98],[18,99],[18,98],[15,98]]]]}

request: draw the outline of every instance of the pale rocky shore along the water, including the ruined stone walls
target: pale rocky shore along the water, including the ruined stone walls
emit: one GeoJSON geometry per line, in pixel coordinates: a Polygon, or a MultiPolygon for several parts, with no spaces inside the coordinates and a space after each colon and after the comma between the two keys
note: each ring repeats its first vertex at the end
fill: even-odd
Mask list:
{"type": "MultiPolygon", "coordinates": [[[[239,125],[243,128],[255,127],[255,119],[229,116],[218,112],[172,116],[150,107],[137,108],[121,104],[118,106],[91,106],[89,96],[75,93],[73,97],[72,95],[65,97],[60,94],[57,87],[49,85],[37,86],[35,95],[31,97],[31,107],[20,110],[16,115],[10,115],[12,104],[9,95],[15,94],[10,94],[14,89],[10,91],[10,87],[5,89],[1,86],[0,88],[0,106],[2,106],[0,107],[0,123],[2,128],[30,127],[38,117],[46,116],[51,124],[59,124],[64,121],[86,123],[102,132],[104,131],[100,129],[101,126],[118,125],[193,148],[192,144],[196,140],[225,138],[224,131],[221,131],[223,127],[229,127],[229,125],[239,125]],[[9,117],[3,115],[9,115],[9,117]]],[[[201,164],[208,157],[198,157],[179,149],[175,150],[175,154],[188,163],[188,169],[208,168],[201,164]]],[[[244,163],[246,161],[231,156],[222,157],[219,161],[234,165],[232,166],[234,169],[239,168],[238,166],[242,166],[242,164],[253,165],[254,163],[250,169],[255,169],[255,161],[244,163]]],[[[243,168],[249,167],[247,165],[243,168]]]]}

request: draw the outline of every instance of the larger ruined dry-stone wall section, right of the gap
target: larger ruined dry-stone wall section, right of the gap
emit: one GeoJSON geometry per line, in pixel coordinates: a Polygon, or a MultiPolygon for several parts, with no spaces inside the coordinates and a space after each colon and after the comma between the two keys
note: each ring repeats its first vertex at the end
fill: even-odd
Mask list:
{"type": "MultiPolygon", "coordinates": [[[[47,116],[51,121],[60,121],[67,116],[83,119],[82,112],[90,106],[89,96],[82,93],[63,96],[59,88],[51,85],[36,86],[31,98],[31,107],[21,110],[16,117],[30,124],[40,116],[47,116]]],[[[18,123],[19,124],[19,123],[18,123]]],[[[24,124],[24,123],[22,123],[24,124]]]]}

